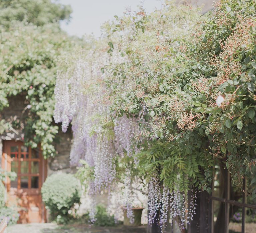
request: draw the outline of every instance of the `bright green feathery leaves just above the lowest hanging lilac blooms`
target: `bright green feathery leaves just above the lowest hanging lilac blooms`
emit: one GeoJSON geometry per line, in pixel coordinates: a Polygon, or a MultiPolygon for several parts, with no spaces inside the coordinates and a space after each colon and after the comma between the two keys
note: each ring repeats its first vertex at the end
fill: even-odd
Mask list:
{"type": "Polygon", "coordinates": [[[157,141],[151,145],[150,150],[139,153],[137,166],[141,175],[150,177],[152,171],[156,171],[160,180],[163,180],[171,191],[183,192],[198,186],[209,190],[207,184],[211,181],[209,166],[213,165],[212,157],[205,156],[205,165],[205,161],[200,157],[203,156],[202,150],[195,150],[193,147],[184,150],[182,142],[179,146],[177,147],[176,143],[157,141]],[[175,156],[176,154],[178,156],[175,156]]]}

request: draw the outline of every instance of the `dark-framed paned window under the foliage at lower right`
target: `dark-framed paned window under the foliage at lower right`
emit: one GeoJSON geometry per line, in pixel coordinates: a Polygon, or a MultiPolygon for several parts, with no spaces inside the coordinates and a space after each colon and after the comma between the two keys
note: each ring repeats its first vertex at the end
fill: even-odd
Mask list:
{"type": "Polygon", "coordinates": [[[247,176],[239,188],[222,161],[215,165],[211,196],[213,233],[256,233],[254,179],[255,174],[247,176]]]}

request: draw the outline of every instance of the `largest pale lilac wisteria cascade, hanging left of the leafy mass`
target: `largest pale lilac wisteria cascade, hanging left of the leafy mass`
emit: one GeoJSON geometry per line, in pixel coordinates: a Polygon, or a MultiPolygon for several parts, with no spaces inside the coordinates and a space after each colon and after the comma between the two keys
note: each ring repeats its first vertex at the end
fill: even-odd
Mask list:
{"type": "MultiPolygon", "coordinates": [[[[56,123],[62,122],[64,132],[72,121],[73,142],[70,163],[79,165],[80,159],[84,159],[89,166],[93,167],[94,177],[89,184],[89,195],[92,199],[95,194],[111,186],[116,177],[115,158],[117,154],[123,150],[131,153],[129,148],[132,140],[132,124],[135,121],[131,121],[127,128],[131,136],[126,145],[120,143],[122,139],[127,140],[122,132],[124,128],[118,131],[118,127],[115,127],[116,136],[113,137],[111,131],[113,132],[114,129],[111,126],[105,126],[112,119],[105,87],[107,76],[106,73],[101,72],[101,68],[110,62],[118,61],[118,56],[109,57],[106,52],[89,51],[74,65],[57,74],[54,119],[56,123]],[[116,149],[117,143],[123,148],[120,146],[119,150],[116,149]]],[[[128,120],[127,123],[129,124],[128,120]]],[[[95,206],[96,204],[92,203],[90,211],[92,222],[95,221],[95,206]]],[[[128,215],[132,218],[130,206],[131,203],[127,202],[128,215]]]]}

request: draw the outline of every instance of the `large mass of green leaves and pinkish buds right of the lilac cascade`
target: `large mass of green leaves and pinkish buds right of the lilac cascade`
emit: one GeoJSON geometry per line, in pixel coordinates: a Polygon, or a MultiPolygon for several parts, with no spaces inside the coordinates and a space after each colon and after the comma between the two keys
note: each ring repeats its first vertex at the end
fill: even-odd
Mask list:
{"type": "Polygon", "coordinates": [[[111,109],[136,117],[147,109],[138,168],[148,179],[210,192],[216,158],[238,185],[255,170],[255,9],[253,0],[222,0],[215,14],[198,16],[167,2],[160,13],[116,17],[108,29],[111,49],[128,58],[104,69],[111,109]]]}

